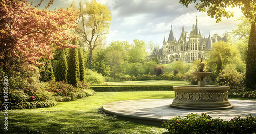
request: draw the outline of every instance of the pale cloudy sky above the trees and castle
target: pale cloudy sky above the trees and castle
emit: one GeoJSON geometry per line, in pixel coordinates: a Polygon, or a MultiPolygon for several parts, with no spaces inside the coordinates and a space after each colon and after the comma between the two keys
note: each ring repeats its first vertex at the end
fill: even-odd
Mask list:
{"type": "MultiPolygon", "coordinates": [[[[33,0],[34,5],[40,0],[33,0]]],[[[45,0],[39,8],[44,8],[49,0],[45,0]]],[[[80,0],[55,0],[50,9],[68,7],[72,2],[78,4],[80,0]]],[[[171,25],[174,38],[180,37],[182,27],[188,34],[192,25],[196,24],[203,37],[218,34],[222,36],[225,31],[231,32],[236,28],[236,21],[242,15],[239,8],[229,8],[234,12],[234,17],[223,18],[222,22],[216,23],[214,18],[207,16],[206,12],[199,12],[191,4],[186,8],[179,0],[98,0],[108,6],[112,13],[112,22],[107,37],[107,44],[112,41],[125,41],[132,43],[134,39],[143,40],[146,43],[152,41],[162,46],[164,37],[169,37],[171,25]]]]}

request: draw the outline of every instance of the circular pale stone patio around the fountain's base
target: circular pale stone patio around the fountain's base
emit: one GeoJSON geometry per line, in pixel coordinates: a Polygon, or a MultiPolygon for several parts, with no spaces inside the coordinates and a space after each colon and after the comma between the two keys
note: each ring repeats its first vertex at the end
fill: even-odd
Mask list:
{"type": "Polygon", "coordinates": [[[227,110],[187,110],[171,108],[169,105],[173,99],[142,99],[128,100],[108,103],[103,106],[103,111],[111,115],[116,115],[122,120],[133,121],[136,123],[161,126],[161,120],[168,121],[170,118],[181,116],[184,117],[189,113],[206,113],[212,118],[230,120],[234,117],[251,114],[256,116],[256,101],[252,100],[234,100],[229,99],[233,109],[227,110]]]}

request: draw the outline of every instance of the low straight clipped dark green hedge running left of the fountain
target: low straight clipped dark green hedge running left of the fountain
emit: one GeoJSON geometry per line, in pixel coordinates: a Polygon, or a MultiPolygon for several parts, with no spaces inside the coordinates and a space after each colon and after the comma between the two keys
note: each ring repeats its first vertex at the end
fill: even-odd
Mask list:
{"type": "Polygon", "coordinates": [[[95,92],[173,91],[173,86],[91,86],[95,92]]]}

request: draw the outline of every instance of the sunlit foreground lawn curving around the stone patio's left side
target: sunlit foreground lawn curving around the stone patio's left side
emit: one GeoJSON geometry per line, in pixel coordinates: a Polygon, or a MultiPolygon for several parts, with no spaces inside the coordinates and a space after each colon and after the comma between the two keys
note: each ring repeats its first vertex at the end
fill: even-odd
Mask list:
{"type": "Polygon", "coordinates": [[[164,133],[166,129],[119,120],[102,112],[102,106],[110,102],[162,98],[174,98],[174,91],[98,92],[91,97],[58,102],[52,108],[9,110],[7,132],[164,133]]]}

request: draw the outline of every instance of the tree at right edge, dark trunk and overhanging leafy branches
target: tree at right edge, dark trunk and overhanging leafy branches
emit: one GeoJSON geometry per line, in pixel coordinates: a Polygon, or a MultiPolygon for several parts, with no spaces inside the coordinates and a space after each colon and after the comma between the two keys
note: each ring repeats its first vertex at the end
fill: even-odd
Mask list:
{"type": "MultiPolygon", "coordinates": [[[[180,3],[186,7],[195,2],[196,0],[180,0],[180,3]]],[[[222,17],[233,17],[233,12],[227,11],[227,7],[239,7],[244,16],[250,19],[251,28],[246,59],[246,87],[256,89],[256,1],[200,0],[200,2],[196,4],[195,8],[202,12],[207,11],[208,16],[217,19],[217,23],[222,20],[222,17]]]]}

